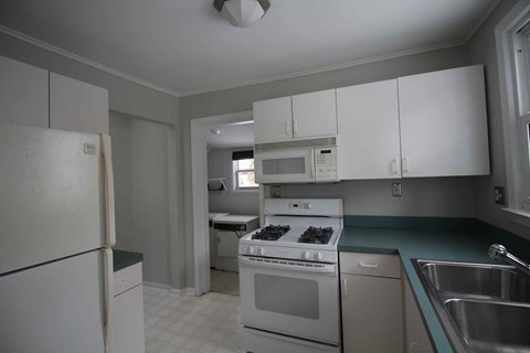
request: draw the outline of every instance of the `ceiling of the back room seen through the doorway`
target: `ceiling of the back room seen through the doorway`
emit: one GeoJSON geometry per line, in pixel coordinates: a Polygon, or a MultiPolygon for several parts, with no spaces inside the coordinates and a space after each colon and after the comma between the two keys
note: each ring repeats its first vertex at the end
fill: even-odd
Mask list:
{"type": "Polygon", "coordinates": [[[254,121],[206,127],[209,150],[239,149],[254,146],[254,121]],[[219,129],[219,133],[212,133],[219,129]]]}

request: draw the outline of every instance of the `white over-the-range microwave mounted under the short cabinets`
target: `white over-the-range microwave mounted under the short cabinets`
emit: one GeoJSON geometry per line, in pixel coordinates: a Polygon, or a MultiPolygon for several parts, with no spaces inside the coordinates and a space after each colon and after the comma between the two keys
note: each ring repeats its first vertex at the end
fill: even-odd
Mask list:
{"type": "Polygon", "coordinates": [[[338,182],[337,138],[254,146],[257,183],[338,182]]]}

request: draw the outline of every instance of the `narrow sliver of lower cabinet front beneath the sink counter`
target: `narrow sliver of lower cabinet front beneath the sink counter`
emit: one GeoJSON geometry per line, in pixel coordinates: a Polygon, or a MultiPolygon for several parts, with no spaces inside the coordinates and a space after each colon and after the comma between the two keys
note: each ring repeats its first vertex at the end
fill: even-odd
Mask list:
{"type": "MultiPolygon", "coordinates": [[[[406,277],[405,277],[406,278],[406,277]]],[[[423,324],[409,279],[405,279],[405,353],[433,353],[427,331],[423,324]]]]}

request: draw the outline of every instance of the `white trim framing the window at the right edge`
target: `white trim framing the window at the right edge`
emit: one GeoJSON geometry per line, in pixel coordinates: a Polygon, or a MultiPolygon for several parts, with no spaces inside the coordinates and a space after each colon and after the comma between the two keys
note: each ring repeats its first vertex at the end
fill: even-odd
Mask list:
{"type": "Polygon", "coordinates": [[[517,81],[512,76],[512,30],[530,13],[530,3],[520,0],[495,28],[499,69],[500,103],[505,139],[505,159],[509,208],[521,210],[524,205],[520,170],[522,168],[521,143],[517,103],[517,81]]]}

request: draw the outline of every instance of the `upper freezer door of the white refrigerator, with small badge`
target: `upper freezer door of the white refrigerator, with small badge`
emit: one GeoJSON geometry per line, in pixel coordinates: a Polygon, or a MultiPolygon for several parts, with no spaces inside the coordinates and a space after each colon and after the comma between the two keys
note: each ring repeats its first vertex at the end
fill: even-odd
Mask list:
{"type": "Polygon", "coordinates": [[[100,136],[0,125],[0,275],[106,245],[100,136]]]}

